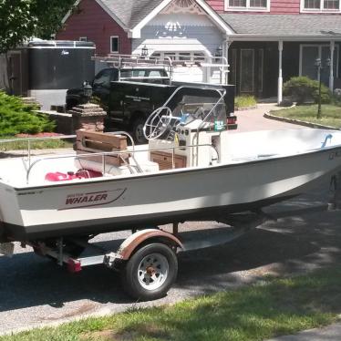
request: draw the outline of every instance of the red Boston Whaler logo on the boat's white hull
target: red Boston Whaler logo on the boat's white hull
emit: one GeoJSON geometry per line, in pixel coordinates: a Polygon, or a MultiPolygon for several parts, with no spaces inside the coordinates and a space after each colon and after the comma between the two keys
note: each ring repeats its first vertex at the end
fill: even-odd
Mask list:
{"type": "Polygon", "coordinates": [[[58,211],[100,206],[116,202],[126,190],[127,189],[125,188],[114,191],[93,191],[88,193],[68,194],[63,207],[59,208],[58,211]]]}

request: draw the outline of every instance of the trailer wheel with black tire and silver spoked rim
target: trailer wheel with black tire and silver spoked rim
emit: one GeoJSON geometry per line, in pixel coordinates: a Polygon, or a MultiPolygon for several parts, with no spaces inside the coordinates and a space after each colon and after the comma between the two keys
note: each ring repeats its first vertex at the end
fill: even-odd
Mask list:
{"type": "Polygon", "coordinates": [[[141,301],[167,294],[178,274],[178,260],[171,248],[150,243],[134,253],[122,270],[124,290],[141,301]]]}

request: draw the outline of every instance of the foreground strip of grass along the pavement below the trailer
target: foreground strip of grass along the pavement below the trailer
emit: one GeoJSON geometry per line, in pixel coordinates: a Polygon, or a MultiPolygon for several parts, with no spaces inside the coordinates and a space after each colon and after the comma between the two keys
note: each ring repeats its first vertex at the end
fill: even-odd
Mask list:
{"type": "Polygon", "coordinates": [[[261,283],[187,300],[176,305],[36,329],[17,340],[201,340],[247,341],[333,323],[341,311],[341,269],[261,283]]]}

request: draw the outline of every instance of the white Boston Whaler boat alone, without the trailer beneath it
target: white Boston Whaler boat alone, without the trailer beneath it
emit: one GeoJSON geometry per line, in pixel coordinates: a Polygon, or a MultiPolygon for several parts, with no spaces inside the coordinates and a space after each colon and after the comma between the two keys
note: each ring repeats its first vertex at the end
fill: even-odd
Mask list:
{"type": "MultiPolygon", "coordinates": [[[[217,131],[209,122],[214,109],[203,118],[192,113],[182,119],[171,109],[156,110],[145,127],[149,145],[135,150],[86,155],[78,150],[66,156],[0,160],[2,240],[219,221],[231,212],[298,195],[341,168],[338,130],[217,131]],[[113,155],[125,155],[126,160],[110,165],[113,155]],[[98,171],[100,176],[47,179],[47,174],[79,170],[98,171]]],[[[110,133],[79,134],[78,143],[86,151],[98,135],[118,138],[110,133]]]]}

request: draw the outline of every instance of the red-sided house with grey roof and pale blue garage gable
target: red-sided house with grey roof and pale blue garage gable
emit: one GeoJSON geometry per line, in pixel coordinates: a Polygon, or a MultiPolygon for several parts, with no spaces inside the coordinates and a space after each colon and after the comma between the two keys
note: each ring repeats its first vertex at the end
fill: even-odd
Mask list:
{"type": "Polygon", "coordinates": [[[238,94],[282,101],[283,82],[317,78],[341,87],[341,0],[78,0],[58,39],[91,40],[98,55],[222,55],[238,94]]]}

